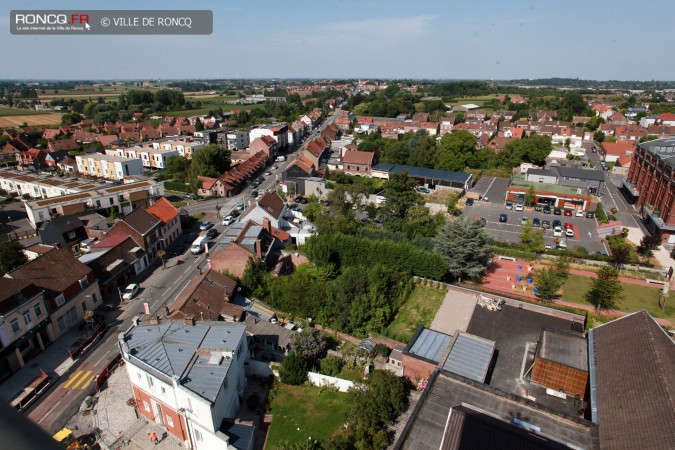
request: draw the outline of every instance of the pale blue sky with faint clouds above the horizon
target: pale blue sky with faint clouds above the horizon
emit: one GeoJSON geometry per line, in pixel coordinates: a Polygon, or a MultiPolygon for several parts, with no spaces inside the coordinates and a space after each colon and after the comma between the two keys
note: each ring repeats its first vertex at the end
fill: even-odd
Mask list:
{"type": "Polygon", "coordinates": [[[675,2],[3,0],[0,79],[674,80],[675,2]],[[210,9],[204,36],[15,36],[12,9],[210,9]]]}

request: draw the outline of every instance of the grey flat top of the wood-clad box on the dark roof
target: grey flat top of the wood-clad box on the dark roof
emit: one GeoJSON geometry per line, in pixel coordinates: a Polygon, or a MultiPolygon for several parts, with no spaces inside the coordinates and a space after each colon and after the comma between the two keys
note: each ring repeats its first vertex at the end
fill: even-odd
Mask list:
{"type": "Polygon", "coordinates": [[[545,329],[538,352],[542,358],[588,372],[588,343],[583,336],[545,329]]]}

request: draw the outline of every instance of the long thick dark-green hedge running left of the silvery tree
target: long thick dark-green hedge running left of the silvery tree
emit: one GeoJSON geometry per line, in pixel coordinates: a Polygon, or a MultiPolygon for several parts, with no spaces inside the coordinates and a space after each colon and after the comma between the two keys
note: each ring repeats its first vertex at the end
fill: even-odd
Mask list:
{"type": "Polygon", "coordinates": [[[317,265],[372,267],[382,264],[397,271],[433,280],[443,280],[447,264],[441,255],[407,242],[373,240],[344,234],[319,235],[307,240],[305,250],[317,265]]]}

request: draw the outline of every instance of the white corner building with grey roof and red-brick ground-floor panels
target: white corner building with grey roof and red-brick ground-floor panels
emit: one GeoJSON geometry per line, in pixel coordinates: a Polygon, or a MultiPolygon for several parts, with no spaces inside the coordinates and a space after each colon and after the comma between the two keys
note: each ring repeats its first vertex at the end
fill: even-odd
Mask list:
{"type": "MultiPolygon", "coordinates": [[[[233,431],[249,358],[244,323],[157,321],[119,335],[138,411],[195,450],[249,450],[233,431]],[[237,445],[231,444],[233,434],[237,445]]],[[[237,427],[246,425],[237,424],[237,427]]]]}

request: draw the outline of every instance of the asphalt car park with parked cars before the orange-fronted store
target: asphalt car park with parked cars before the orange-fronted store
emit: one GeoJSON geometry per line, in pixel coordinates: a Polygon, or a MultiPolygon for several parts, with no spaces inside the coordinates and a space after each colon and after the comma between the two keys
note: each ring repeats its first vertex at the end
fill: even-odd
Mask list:
{"type": "MultiPolygon", "coordinates": [[[[504,208],[504,203],[491,203],[476,201],[472,206],[464,207],[464,215],[469,217],[480,217],[486,220],[485,228],[495,237],[496,240],[502,242],[520,242],[521,220],[527,217],[532,223],[536,217],[540,221],[548,220],[553,224],[554,220],[560,220],[563,224],[569,222],[574,229],[574,237],[565,238],[567,248],[572,250],[575,247],[584,247],[589,253],[603,252],[608,253],[605,245],[600,242],[595,227],[598,222],[595,218],[587,219],[576,216],[556,216],[554,214],[544,214],[543,211],[534,211],[533,208],[525,208],[524,211],[516,211],[515,207],[512,210],[504,208]],[[507,221],[505,223],[499,222],[499,215],[506,214],[507,221]]],[[[534,228],[542,229],[543,228],[534,228]]],[[[543,230],[545,244],[555,247],[553,241],[553,229],[543,230]]]]}

